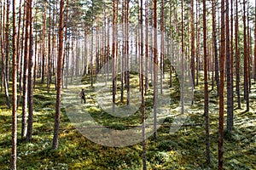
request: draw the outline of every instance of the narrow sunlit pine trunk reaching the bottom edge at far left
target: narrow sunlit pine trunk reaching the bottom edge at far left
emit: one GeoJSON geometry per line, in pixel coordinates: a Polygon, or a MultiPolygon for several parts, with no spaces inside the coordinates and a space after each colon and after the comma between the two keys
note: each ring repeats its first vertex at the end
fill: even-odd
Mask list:
{"type": "Polygon", "coordinates": [[[13,105],[12,105],[12,169],[16,169],[17,161],[17,58],[16,58],[16,16],[15,0],[13,0],[13,105]]]}

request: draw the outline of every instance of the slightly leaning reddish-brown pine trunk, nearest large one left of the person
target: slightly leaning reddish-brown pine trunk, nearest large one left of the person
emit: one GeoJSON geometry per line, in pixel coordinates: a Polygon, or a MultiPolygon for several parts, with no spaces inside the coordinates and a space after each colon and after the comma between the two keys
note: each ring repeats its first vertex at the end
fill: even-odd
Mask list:
{"type": "Polygon", "coordinates": [[[53,137],[53,149],[57,149],[59,142],[59,127],[61,116],[61,73],[63,59],[63,30],[64,30],[64,0],[60,1],[60,24],[59,24],[59,48],[58,48],[58,65],[57,65],[57,94],[55,110],[55,129],[53,137]]]}

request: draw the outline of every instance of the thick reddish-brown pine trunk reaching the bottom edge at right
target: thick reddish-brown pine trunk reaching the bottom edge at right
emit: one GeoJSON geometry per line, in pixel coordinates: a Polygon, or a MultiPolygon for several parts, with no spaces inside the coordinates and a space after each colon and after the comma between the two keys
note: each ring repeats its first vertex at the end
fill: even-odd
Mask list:
{"type": "Polygon", "coordinates": [[[223,170],[224,143],[224,56],[225,56],[225,3],[221,0],[220,82],[218,117],[218,169],[223,170]]]}

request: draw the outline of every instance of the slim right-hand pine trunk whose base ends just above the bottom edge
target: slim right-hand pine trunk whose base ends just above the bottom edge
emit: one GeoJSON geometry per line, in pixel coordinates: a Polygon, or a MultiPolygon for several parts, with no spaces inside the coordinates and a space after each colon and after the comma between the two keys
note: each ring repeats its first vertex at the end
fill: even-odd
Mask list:
{"type": "Polygon", "coordinates": [[[205,105],[204,114],[206,116],[206,148],[207,148],[207,163],[210,163],[210,123],[209,123],[209,97],[208,97],[208,75],[207,75],[207,9],[206,1],[203,1],[203,45],[204,45],[204,79],[205,79],[205,105]]]}

